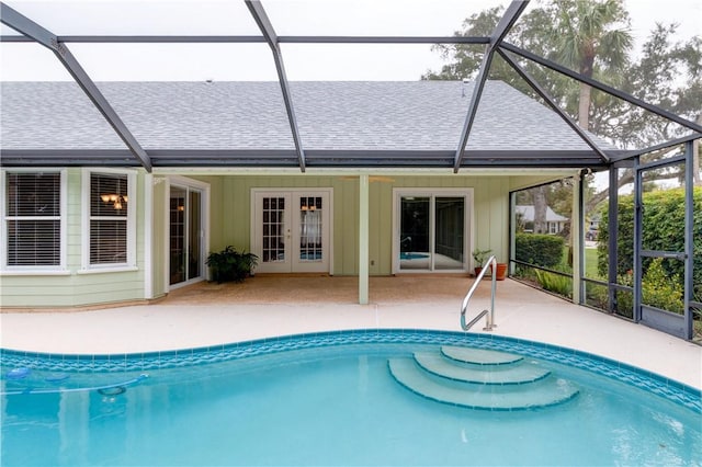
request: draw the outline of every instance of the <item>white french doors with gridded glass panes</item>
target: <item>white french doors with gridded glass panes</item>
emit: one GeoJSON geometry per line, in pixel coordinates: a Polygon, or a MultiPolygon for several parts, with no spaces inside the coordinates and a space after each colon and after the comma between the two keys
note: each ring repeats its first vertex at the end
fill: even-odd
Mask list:
{"type": "Polygon", "coordinates": [[[257,272],[330,272],[331,190],[252,190],[257,272]]]}

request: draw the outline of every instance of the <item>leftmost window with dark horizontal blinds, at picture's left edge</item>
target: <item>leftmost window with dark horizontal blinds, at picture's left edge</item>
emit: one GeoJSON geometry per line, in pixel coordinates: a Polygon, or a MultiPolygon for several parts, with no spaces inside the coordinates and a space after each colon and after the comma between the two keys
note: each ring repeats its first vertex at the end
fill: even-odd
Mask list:
{"type": "Polygon", "coordinates": [[[64,172],[4,171],[3,269],[64,265],[64,172]]]}

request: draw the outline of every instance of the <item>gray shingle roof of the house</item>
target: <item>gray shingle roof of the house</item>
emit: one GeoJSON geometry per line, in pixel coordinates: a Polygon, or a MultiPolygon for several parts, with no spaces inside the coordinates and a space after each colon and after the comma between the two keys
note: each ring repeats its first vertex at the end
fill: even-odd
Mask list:
{"type": "MultiPolygon", "coordinates": [[[[147,151],[294,149],[278,82],[98,86],[147,151]]],[[[458,81],[290,86],[304,149],[350,151],[455,151],[473,89],[458,81]]],[[[0,88],[4,150],[125,148],[73,82],[0,88]]],[[[466,148],[591,151],[550,109],[501,81],[487,82],[466,148]]]]}

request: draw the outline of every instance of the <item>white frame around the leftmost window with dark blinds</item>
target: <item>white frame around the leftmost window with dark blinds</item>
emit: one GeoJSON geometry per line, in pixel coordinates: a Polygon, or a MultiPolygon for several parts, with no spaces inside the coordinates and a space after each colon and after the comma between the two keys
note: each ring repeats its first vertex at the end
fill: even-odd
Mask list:
{"type": "MultiPolygon", "coordinates": [[[[2,169],[0,170],[0,193],[2,193],[2,200],[0,201],[0,219],[2,220],[0,242],[0,275],[65,275],[69,274],[67,270],[67,238],[68,238],[68,185],[67,185],[66,169],[56,168],[35,168],[35,169],[2,169]],[[59,218],[59,264],[53,265],[8,265],[8,220],[16,220],[16,217],[8,216],[8,186],[7,174],[8,173],[58,173],[60,176],[60,202],[59,216],[49,216],[46,219],[55,220],[59,218]]],[[[39,216],[33,217],[39,219],[39,216]]]]}

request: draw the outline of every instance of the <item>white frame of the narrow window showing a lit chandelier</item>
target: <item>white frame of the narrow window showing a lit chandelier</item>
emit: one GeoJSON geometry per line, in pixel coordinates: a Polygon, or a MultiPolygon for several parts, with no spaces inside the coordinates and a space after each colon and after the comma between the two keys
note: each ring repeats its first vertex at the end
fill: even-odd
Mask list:
{"type": "Polygon", "coordinates": [[[136,229],[137,229],[137,172],[131,169],[102,169],[102,168],[88,168],[82,171],[82,252],[81,252],[81,270],[80,274],[90,273],[107,273],[107,272],[121,272],[121,271],[137,271],[136,264],[136,229]],[[129,209],[127,210],[127,254],[126,261],[122,263],[109,263],[109,264],[90,264],[90,179],[92,174],[118,174],[127,175],[127,198],[129,203],[129,209]]]}

